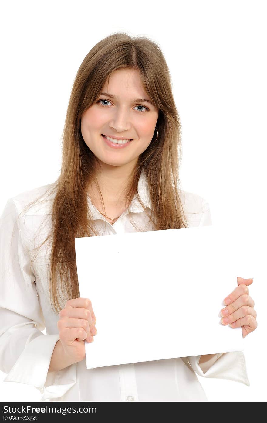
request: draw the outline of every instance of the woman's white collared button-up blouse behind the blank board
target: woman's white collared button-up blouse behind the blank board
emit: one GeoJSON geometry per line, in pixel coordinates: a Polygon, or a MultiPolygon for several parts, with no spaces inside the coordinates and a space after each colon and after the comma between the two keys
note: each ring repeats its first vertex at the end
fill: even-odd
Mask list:
{"type": "MultiPolygon", "coordinates": [[[[86,368],[84,358],[47,373],[59,340],[59,316],[54,314],[48,296],[49,247],[46,244],[41,247],[32,269],[30,263],[34,248],[44,241],[51,228],[52,198],[38,201],[16,219],[30,201],[45,194],[51,186],[44,185],[10,198],[0,217],[0,370],[7,374],[4,382],[35,386],[43,393],[41,401],[208,401],[196,374],[249,386],[241,351],[218,353],[202,364],[198,355],[93,369],[86,368]],[[41,332],[45,328],[46,335],[41,332]]],[[[144,172],[138,192],[151,211],[144,172]]],[[[179,194],[189,227],[212,225],[209,204],[204,198],[182,190],[179,194]]],[[[88,206],[101,235],[136,232],[126,212],[112,226],[89,197],[88,206]]],[[[130,210],[138,227],[152,230],[136,195],[130,210]]]]}

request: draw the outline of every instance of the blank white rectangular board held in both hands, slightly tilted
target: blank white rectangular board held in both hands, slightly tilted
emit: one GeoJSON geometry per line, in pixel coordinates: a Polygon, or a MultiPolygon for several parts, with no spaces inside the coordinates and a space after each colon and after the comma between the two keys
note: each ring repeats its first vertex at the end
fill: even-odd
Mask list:
{"type": "Polygon", "coordinates": [[[75,238],[80,297],[97,319],[87,368],[243,351],[241,327],[220,316],[240,276],[236,245],[214,225],[75,238]]]}

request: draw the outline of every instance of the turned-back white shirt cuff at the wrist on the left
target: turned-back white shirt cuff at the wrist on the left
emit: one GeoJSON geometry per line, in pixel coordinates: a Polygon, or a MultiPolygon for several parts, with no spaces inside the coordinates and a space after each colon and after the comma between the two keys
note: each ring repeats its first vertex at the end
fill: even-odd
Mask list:
{"type": "Polygon", "coordinates": [[[60,398],[75,383],[77,363],[49,372],[54,346],[59,335],[40,335],[25,346],[4,382],[19,382],[35,386],[43,396],[41,401],[60,398]]]}

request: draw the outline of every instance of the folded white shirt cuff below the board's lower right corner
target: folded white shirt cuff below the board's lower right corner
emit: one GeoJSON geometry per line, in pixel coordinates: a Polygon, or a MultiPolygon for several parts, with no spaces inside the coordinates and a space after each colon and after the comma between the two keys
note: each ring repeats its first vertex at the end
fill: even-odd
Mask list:
{"type": "Polygon", "coordinates": [[[242,351],[215,354],[210,360],[199,365],[200,355],[188,357],[193,371],[202,377],[229,379],[250,386],[245,356],[242,351]]]}

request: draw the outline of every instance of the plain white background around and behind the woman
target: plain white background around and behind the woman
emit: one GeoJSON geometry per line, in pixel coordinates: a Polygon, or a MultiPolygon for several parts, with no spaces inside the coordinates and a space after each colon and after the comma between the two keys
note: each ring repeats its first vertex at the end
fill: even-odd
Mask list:
{"type": "MultiPolygon", "coordinates": [[[[181,118],[182,189],[206,198],[213,224],[234,225],[237,249],[253,253],[237,275],[254,278],[258,328],[244,338],[251,385],[198,377],[210,401],[266,401],[266,3],[96,3],[2,5],[0,209],[59,176],[68,99],[89,50],[117,31],[157,42],[181,118]]],[[[1,401],[40,400],[34,387],[4,377],[1,401]]]]}

